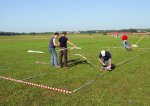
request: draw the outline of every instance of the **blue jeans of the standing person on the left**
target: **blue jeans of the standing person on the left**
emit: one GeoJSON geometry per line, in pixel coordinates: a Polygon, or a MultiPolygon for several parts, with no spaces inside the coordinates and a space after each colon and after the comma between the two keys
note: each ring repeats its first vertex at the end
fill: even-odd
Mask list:
{"type": "Polygon", "coordinates": [[[57,54],[55,48],[49,48],[49,51],[51,53],[51,65],[58,66],[58,60],[57,60],[57,54]]]}

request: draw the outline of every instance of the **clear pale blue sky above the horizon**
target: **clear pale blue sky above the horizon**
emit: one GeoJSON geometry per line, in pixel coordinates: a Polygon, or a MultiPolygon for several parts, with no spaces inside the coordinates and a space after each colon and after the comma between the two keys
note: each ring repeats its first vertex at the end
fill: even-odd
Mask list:
{"type": "Polygon", "coordinates": [[[150,28],[150,0],[0,0],[0,31],[150,28]]]}

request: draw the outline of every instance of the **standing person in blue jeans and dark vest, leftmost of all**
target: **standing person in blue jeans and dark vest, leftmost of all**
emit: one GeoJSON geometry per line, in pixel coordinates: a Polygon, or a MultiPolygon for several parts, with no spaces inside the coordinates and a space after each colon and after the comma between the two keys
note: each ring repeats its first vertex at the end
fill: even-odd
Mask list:
{"type": "Polygon", "coordinates": [[[55,67],[60,67],[58,65],[58,59],[57,59],[57,54],[55,51],[55,48],[58,47],[56,44],[56,39],[58,38],[59,33],[54,33],[53,37],[50,39],[49,43],[49,52],[51,53],[51,65],[55,67]]]}

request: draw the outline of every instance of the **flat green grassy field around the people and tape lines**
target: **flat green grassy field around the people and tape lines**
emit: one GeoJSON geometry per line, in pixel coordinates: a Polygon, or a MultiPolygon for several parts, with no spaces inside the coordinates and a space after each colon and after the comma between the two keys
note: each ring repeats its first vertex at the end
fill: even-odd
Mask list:
{"type": "MultiPolygon", "coordinates": [[[[129,42],[135,44],[140,37],[129,35],[129,42]]],[[[89,81],[94,80],[93,83],[75,93],[65,94],[0,79],[1,106],[148,106],[150,104],[150,49],[140,49],[150,48],[149,37],[144,37],[138,43],[138,48],[126,51],[123,48],[105,48],[122,47],[121,38],[101,34],[68,35],[70,41],[82,48],[69,51],[68,64],[72,66],[68,69],[50,66],[49,38],[50,35],[1,36],[0,76],[22,80],[46,73],[25,81],[70,91],[89,81]],[[102,72],[83,58],[74,55],[82,54],[91,63],[100,67],[98,55],[102,49],[111,52],[113,64],[143,54],[111,72],[102,72]],[[28,50],[45,53],[28,53],[28,50]],[[49,64],[35,64],[36,61],[49,64]]]]}

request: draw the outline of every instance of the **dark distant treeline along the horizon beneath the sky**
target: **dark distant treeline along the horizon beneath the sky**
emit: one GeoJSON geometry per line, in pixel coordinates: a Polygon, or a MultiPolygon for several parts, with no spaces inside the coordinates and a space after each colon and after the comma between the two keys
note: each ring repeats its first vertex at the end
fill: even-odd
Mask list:
{"type": "MultiPolygon", "coordinates": [[[[69,33],[76,33],[73,31],[67,31],[69,33]]],[[[109,32],[131,32],[131,33],[141,33],[141,32],[150,32],[150,29],[121,29],[121,30],[88,30],[88,31],[79,31],[79,33],[84,34],[94,34],[94,33],[109,33],[109,32]]],[[[60,32],[61,33],[61,32],[60,32]]],[[[14,36],[14,35],[44,35],[44,34],[53,34],[53,32],[30,32],[30,33],[18,33],[18,32],[0,32],[0,36],[14,36]]]]}

